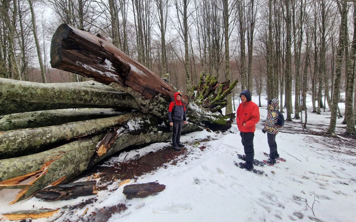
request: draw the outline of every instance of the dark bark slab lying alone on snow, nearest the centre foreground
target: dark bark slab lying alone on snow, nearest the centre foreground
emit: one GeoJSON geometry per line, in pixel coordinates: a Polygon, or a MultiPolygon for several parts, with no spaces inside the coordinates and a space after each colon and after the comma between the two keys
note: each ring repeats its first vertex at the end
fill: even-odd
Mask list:
{"type": "Polygon", "coordinates": [[[146,183],[146,184],[131,184],[124,186],[122,193],[126,195],[127,199],[132,199],[134,197],[144,198],[151,195],[156,195],[158,192],[166,189],[166,185],[159,184],[156,182],[146,183]]]}

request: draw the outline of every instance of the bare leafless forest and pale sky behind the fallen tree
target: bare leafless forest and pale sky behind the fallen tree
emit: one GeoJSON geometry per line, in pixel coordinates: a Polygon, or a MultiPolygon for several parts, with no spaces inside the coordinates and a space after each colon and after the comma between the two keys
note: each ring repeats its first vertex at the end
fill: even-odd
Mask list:
{"type": "Polygon", "coordinates": [[[336,118],[344,115],[337,112],[337,102],[340,91],[345,92],[345,133],[355,135],[355,0],[4,0],[0,4],[2,78],[84,81],[49,68],[52,35],[59,24],[68,23],[108,38],[188,95],[201,74],[219,82],[238,79],[232,96],[249,89],[260,96],[267,93],[267,99],[277,97],[287,121],[292,121],[301,118],[308,93],[313,112],[320,113],[325,103],[330,107],[328,134],[332,135],[336,118]]]}

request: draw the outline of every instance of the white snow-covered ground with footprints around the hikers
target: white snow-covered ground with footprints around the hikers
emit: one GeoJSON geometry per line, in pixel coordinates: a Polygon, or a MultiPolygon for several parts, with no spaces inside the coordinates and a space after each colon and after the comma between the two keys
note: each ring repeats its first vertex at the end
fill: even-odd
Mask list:
{"type": "MultiPolygon", "coordinates": [[[[253,101],[257,103],[258,100],[253,98],[253,101]]],[[[269,153],[267,136],[261,132],[267,101],[262,102],[261,121],[254,139],[255,159],[259,160],[267,159],[262,152],[269,153]]],[[[340,106],[343,112],[343,104],[340,106]]],[[[311,104],[308,107],[308,122],[325,124],[326,130],[330,112],[327,112],[328,115],[316,115],[311,113],[311,104]]],[[[342,118],[337,120],[338,127],[344,126],[340,125],[341,121],[342,118]]],[[[136,182],[131,180],[127,183],[157,181],[166,185],[164,191],[155,196],[127,200],[122,194],[124,185],[119,187],[121,181],[116,181],[109,185],[108,190],[98,192],[98,201],[88,205],[88,212],[124,203],[127,210],[112,215],[109,221],[356,221],[356,157],[345,154],[350,146],[355,146],[355,139],[341,138],[349,141],[350,146],[335,147],[331,138],[303,134],[296,123],[286,123],[285,127],[295,128],[295,133],[290,133],[290,130],[283,132],[282,128],[276,138],[279,154],[287,161],[274,166],[255,166],[264,170],[265,174],[255,174],[234,165],[234,160],[242,162],[236,154],[244,154],[236,125],[225,133],[206,130],[194,132],[182,136],[181,142],[192,144],[195,139],[208,136],[212,139],[186,146],[188,156],[180,158],[176,165],[167,164],[141,176],[136,182]],[[200,150],[201,146],[206,148],[200,150]]],[[[339,130],[342,132],[342,129],[339,130]]],[[[138,152],[142,156],[168,144],[151,144],[138,152]]],[[[126,154],[126,160],[129,160],[135,158],[137,151],[123,152],[104,164],[122,162],[126,154]]],[[[56,202],[44,202],[33,197],[11,206],[1,203],[0,213],[36,208],[56,209],[76,205],[91,197],[56,202]]],[[[84,210],[71,214],[70,221],[86,221],[89,213],[82,217],[84,210]]],[[[62,208],[53,217],[32,221],[66,221],[68,211],[62,208]]]]}

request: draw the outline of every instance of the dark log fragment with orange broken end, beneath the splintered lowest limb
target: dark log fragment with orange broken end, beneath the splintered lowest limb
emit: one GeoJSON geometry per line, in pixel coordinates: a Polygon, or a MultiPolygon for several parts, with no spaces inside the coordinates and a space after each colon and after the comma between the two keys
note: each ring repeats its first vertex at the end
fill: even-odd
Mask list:
{"type": "Polygon", "coordinates": [[[80,196],[97,194],[96,180],[63,184],[47,187],[38,191],[34,196],[45,201],[68,200],[80,196]]]}

